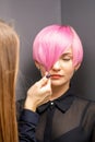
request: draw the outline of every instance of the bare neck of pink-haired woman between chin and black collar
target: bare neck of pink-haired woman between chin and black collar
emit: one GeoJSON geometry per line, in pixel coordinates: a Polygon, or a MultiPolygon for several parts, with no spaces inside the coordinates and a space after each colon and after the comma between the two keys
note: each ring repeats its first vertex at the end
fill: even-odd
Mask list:
{"type": "Polygon", "coordinates": [[[52,95],[50,100],[54,100],[60,97],[61,95],[63,95],[69,90],[69,85],[51,86],[51,90],[52,90],[52,95]]]}

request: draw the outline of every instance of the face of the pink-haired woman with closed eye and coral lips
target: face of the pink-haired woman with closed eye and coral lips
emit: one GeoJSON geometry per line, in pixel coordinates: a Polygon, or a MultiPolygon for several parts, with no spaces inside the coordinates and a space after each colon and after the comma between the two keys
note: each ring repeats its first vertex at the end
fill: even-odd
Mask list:
{"type": "MultiPolygon", "coordinates": [[[[73,55],[72,49],[69,48],[52,66],[49,70],[51,85],[52,86],[60,86],[60,85],[68,85],[73,76],[74,71],[79,68],[79,66],[73,66],[73,55]]],[[[39,64],[39,69],[41,75],[46,74],[46,70],[44,66],[39,64]]]]}

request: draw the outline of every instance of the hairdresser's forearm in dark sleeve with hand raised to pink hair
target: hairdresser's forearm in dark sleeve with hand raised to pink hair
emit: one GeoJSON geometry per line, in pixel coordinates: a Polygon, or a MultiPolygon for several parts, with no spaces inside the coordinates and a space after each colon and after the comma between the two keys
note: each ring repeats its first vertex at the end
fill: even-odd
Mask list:
{"type": "Polygon", "coordinates": [[[36,108],[50,99],[50,80],[43,78],[28,91],[24,109],[19,119],[20,142],[36,142],[35,130],[38,122],[36,108]]]}

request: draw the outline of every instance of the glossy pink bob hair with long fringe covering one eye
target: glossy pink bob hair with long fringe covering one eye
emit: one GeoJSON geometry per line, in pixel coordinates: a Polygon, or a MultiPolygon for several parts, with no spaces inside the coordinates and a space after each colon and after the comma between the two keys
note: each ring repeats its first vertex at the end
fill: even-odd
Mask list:
{"type": "Polygon", "coordinates": [[[33,59],[45,67],[47,71],[72,48],[73,66],[83,60],[83,47],[76,32],[71,26],[50,25],[43,28],[33,43],[33,59]]]}

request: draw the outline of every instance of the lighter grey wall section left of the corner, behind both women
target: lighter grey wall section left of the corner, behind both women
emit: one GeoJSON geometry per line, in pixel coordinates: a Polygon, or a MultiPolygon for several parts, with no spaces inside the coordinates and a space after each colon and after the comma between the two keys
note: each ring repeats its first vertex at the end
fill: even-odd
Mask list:
{"type": "Polygon", "coordinates": [[[32,59],[33,40],[44,26],[61,23],[60,0],[0,0],[0,19],[11,23],[20,35],[16,99],[21,99],[39,79],[32,59]]]}

